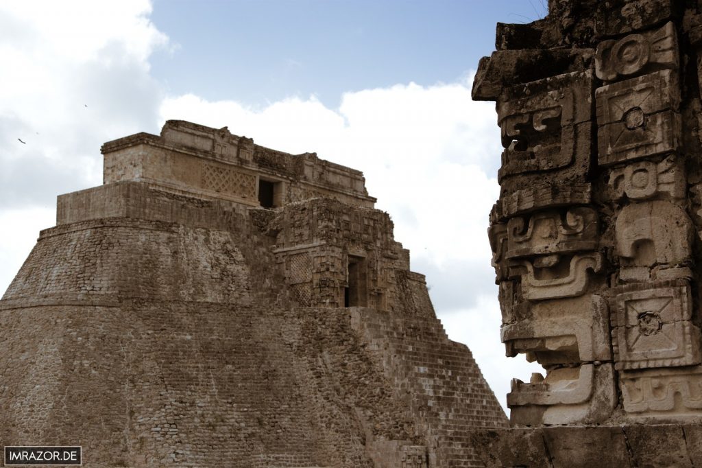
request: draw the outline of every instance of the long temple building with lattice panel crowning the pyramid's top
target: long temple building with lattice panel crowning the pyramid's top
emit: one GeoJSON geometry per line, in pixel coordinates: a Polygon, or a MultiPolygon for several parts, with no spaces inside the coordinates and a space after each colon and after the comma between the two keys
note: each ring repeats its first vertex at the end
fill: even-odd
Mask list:
{"type": "Polygon", "coordinates": [[[254,145],[224,127],[169,120],[161,135],[135,134],[102,145],[104,182],[146,181],[174,193],[260,206],[260,181],[274,183],[275,206],[329,197],[372,208],[361,171],[254,145]]]}

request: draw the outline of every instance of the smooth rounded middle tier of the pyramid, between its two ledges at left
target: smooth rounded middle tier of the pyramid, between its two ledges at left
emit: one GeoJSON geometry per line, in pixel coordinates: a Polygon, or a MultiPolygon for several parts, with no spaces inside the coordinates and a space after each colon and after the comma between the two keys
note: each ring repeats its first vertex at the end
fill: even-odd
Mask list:
{"type": "Polygon", "coordinates": [[[125,218],[41,232],[3,299],[143,297],[249,304],[232,233],[125,218]]]}

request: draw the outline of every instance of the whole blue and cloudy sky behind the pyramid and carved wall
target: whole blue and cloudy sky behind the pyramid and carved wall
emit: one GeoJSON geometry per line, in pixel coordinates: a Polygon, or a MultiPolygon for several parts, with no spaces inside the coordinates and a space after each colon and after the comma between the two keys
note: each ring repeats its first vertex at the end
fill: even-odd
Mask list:
{"type": "Polygon", "coordinates": [[[501,145],[470,87],[496,22],[545,2],[0,0],[0,293],[56,196],[102,183],[102,143],[166,119],[228,126],[364,171],[505,406],[510,379],[542,369],[500,343],[486,230],[501,145]]]}

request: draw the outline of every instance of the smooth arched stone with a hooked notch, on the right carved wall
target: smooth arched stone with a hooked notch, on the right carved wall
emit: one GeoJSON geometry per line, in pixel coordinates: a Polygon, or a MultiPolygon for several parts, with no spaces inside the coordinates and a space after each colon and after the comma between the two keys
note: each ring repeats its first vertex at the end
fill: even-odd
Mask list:
{"type": "Polygon", "coordinates": [[[616,220],[616,254],[623,266],[675,266],[689,261],[693,232],[692,221],[677,204],[629,204],[616,220]]]}

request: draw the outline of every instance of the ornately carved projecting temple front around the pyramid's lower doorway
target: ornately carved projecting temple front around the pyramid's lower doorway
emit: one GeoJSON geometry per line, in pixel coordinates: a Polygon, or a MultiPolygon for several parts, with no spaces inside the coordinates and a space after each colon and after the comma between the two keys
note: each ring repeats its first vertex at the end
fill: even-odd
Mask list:
{"type": "MultiPolygon", "coordinates": [[[[390,216],[329,199],[293,203],[272,220],[277,261],[301,306],[343,307],[344,288],[357,262],[362,291],[354,306],[392,311],[399,304],[397,272],[409,253],[392,236],[390,216]]],[[[432,310],[432,309],[428,309],[432,310]]]]}

